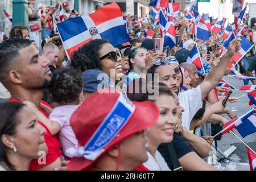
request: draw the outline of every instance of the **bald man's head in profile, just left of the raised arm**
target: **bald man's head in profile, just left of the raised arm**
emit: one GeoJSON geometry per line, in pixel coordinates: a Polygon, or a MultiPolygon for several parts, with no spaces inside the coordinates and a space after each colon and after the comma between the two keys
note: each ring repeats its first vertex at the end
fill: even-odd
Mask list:
{"type": "Polygon", "coordinates": [[[199,75],[197,74],[197,69],[195,64],[191,64],[191,63],[181,63],[180,67],[187,69],[188,71],[188,76],[189,78],[191,78],[191,86],[193,86],[193,88],[196,88],[197,85],[199,84],[199,75]]]}

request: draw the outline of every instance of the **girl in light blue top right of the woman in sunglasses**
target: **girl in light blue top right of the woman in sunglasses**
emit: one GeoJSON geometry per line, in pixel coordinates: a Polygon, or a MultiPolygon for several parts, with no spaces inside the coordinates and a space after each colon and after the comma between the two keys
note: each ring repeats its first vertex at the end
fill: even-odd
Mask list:
{"type": "Polygon", "coordinates": [[[146,56],[147,50],[142,47],[135,48],[131,51],[131,56],[129,57],[130,72],[127,75],[127,85],[129,85],[131,80],[141,77],[141,73],[143,73],[146,67],[146,56]]]}

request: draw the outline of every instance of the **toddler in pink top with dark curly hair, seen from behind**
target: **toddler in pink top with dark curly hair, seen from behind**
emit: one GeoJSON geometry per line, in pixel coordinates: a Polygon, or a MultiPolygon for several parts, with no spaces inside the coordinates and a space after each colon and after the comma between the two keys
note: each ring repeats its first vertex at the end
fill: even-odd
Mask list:
{"type": "MultiPolygon", "coordinates": [[[[78,147],[75,133],[70,126],[69,119],[73,112],[80,106],[82,101],[82,78],[74,70],[61,70],[52,76],[49,84],[49,98],[56,107],[49,114],[49,119],[35,108],[32,103],[30,106],[35,114],[40,118],[52,135],[59,133],[63,153],[70,158],[67,149],[78,147]]],[[[27,101],[26,101],[27,102],[27,101]]],[[[47,108],[44,108],[47,110],[47,108]]],[[[49,109],[48,109],[49,112],[49,109]]]]}

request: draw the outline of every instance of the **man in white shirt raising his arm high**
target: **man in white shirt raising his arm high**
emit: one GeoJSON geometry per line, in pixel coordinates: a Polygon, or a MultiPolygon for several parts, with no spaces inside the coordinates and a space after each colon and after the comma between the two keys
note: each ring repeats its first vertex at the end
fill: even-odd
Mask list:
{"type": "MultiPolygon", "coordinates": [[[[160,61],[160,64],[154,64],[148,69],[147,73],[159,74],[159,82],[163,82],[172,89],[176,94],[179,93],[180,105],[185,109],[182,115],[182,125],[189,130],[190,122],[192,121],[196,112],[202,107],[202,100],[208,95],[210,90],[215,88],[225,74],[226,67],[228,66],[230,57],[240,49],[240,42],[233,40],[229,44],[228,51],[221,58],[221,63],[212,69],[208,77],[196,88],[179,93],[179,88],[176,85],[176,74],[174,69],[160,61]]],[[[150,80],[149,80],[150,81],[150,80]]],[[[154,81],[154,80],[153,80],[154,81]]]]}

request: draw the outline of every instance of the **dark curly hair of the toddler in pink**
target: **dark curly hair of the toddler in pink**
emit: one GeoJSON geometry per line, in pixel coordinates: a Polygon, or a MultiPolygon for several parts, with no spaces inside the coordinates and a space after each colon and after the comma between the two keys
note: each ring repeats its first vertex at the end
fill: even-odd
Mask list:
{"type": "Polygon", "coordinates": [[[60,69],[52,75],[49,98],[52,102],[67,104],[78,100],[82,92],[82,77],[75,69],[60,69]]]}

